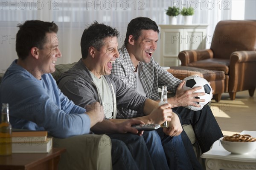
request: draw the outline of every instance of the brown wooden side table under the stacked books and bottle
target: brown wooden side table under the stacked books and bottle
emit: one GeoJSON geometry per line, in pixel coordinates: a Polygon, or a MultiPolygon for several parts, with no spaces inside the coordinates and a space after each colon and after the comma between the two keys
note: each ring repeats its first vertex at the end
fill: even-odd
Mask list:
{"type": "Polygon", "coordinates": [[[52,148],[49,153],[13,153],[0,156],[0,170],[57,170],[61,153],[66,149],[52,148]]]}

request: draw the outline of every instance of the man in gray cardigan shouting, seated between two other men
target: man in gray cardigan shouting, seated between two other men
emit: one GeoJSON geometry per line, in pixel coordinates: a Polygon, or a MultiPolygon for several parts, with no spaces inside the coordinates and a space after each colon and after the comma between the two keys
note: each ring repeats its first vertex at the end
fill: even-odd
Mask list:
{"type": "MultiPolygon", "coordinates": [[[[91,130],[94,133],[108,133],[111,138],[122,140],[127,145],[135,140],[136,135],[121,134],[125,131],[119,124],[127,119],[116,119],[116,105],[137,110],[142,116],[134,119],[146,124],[162,124],[164,121],[176,124],[173,129],[161,128],[162,133],[172,130],[172,137],[163,133],[161,138],[156,131],[147,131],[143,133],[143,141],[147,144],[155,169],[192,169],[180,137],[180,119],[169,109],[172,106],[164,104],[158,107],[157,102],[131,90],[119,78],[111,75],[112,63],[119,57],[118,35],[116,29],[97,22],[85,29],[81,37],[82,59],[61,75],[59,88],[79,106],[85,107],[98,101],[104,109],[105,120],[91,130]]],[[[129,149],[134,153],[139,168],[147,169],[144,162],[139,160],[139,150],[133,147],[129,149]]]]}

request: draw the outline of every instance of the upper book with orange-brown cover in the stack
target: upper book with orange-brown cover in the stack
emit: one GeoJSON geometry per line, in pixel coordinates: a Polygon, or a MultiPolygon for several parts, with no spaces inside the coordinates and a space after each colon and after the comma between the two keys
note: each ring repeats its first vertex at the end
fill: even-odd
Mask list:
{"type": "Polygon", "coordinates": [[[12,132],[12,142],[46,141],[47,134],[47,131],[14,131],[12,132]]]}

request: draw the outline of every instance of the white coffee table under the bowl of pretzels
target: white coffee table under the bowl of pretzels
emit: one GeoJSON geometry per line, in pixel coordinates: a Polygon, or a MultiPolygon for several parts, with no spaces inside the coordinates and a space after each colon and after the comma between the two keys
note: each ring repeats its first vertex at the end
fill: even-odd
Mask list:
{"type": "MultiPolygon", "coordinates": [[[[243,131],[240,134],[256,137],[256,131],[243,131]]],[[[207,170],[256,170],[256,150],[247,154],[233,154],[221,146],[220,140],[215,141],[201,157],[206,159],[207,170]]]]}

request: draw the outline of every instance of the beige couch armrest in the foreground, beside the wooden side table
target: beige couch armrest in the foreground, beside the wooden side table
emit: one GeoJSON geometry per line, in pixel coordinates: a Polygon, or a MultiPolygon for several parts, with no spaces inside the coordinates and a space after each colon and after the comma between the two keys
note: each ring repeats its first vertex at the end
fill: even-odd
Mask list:
{"type": "Polygon", "coordinates": [[[107,135],[77,135],[53,138],[53,147],[66,148],[58,170],[111,170],[111,139],[107,135]]]}

